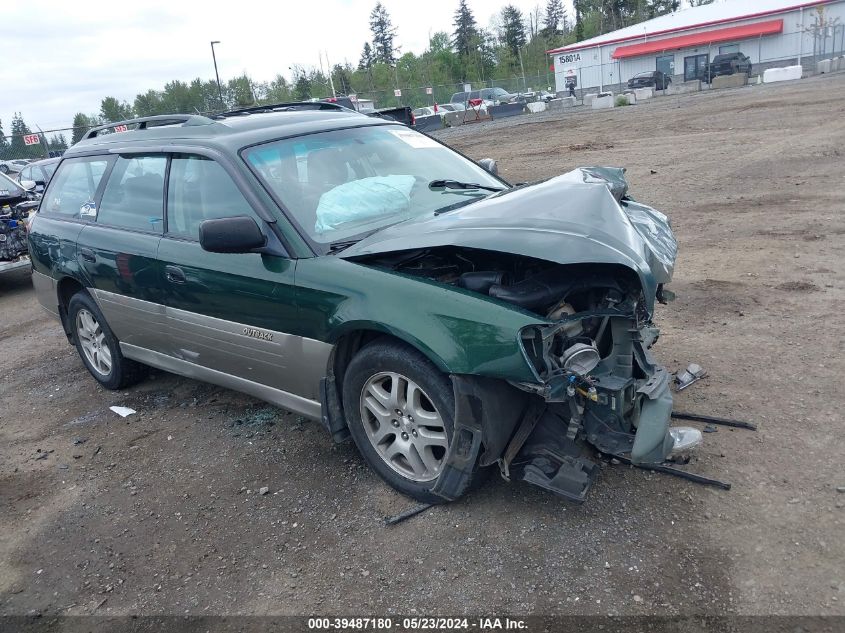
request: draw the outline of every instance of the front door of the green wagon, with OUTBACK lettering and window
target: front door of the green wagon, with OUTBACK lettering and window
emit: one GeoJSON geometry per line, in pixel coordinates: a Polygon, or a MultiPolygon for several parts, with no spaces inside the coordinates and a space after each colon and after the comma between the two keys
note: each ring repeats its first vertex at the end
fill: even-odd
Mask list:
{"type": "MultiPolygon", "coordinates": [[[[167,228],[158,254],[170,354],[181,363],[181,373],[267,397],[256,390],[262,385],[313,405],[319,400],[319,378],[325,374],[330,348],[291,334],[298,321],[296,260],[211,253],[198,241],[204,220],[244,215],[271,235],[254,209],[257,201],[248,200],[252,196],[244,194],[233,174],[208,156],[180,154],[171,159],[167,228]]],[[[268,399],[303,411],[278,394],[268,399]]]]}

